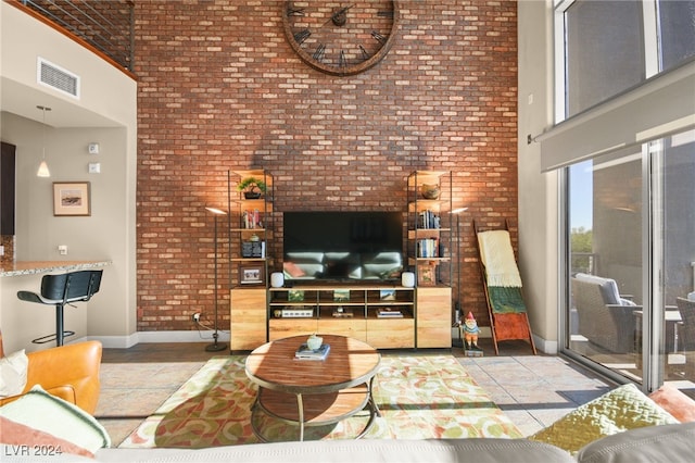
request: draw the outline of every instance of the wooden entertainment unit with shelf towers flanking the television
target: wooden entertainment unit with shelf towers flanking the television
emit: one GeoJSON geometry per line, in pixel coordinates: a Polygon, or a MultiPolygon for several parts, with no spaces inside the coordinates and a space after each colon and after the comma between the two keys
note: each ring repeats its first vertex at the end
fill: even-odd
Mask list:
{"type": "Polygon", "coordinates": [[[239,265],[232,270],[237,278],[230,293],[232,351],[314,333],[349,336],[377,349],[451,348],[451,172],[416,171],[407,178],[406,261],[416,274],[415,287],[379,279],[270,287],[267,250],[274,248],[265,246],[265,251],[249,255],[248,243],[251,237],[266,245],[273,239],[273,177],[264,171],[233,174],[239,182],[248,176],[263,178],[267,191],[258,199],[240,193],[231,211],[230,263],[239,265]],[[424,198],[424,184],[437,185],[438,198],[424,198]],[[252,221],[244,218],[249,211],[253,211],[252,221]],[[448,271],[441,272],[445,265],[448,271]]]}

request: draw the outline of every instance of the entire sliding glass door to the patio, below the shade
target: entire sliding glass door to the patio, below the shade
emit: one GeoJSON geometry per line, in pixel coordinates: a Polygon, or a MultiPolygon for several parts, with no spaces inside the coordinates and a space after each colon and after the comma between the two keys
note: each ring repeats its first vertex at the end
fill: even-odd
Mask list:
{"type": "Polygon", "coordinates": [[[567,223],[566,349],[695,393],[695,130],[568,167],[567,223]]]}

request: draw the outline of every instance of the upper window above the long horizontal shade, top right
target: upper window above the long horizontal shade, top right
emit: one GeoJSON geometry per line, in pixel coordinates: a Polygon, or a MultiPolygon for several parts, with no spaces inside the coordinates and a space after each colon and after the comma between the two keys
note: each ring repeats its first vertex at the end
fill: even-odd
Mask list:
{"type": "Polygon", "coordinates": [[[695,57],[693,1],[577,0],[558,17],[566,117],[695,57]]]}

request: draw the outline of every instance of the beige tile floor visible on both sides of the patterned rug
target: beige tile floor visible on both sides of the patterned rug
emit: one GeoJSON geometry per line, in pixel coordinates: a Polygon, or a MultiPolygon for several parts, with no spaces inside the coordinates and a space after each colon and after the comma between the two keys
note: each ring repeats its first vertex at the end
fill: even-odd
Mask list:
{"type": "MultiPolygon", "coordinates": [[[[227,353],[206,352],[205,346],[144,343],[129,349],[104,349],[102,393],[96,415],[109,430],[114,446],[210,358],[227,353]],[[126,370],[122,364],[130,366],[126,370]]],[[[480,346],[484,351],[481,358],[466,358],[462,348],[452,348],[451,352],[525,436],[615,387],[563,358],[533,355],[522,341],[500,343],[500,355],[494,354],[490,339],[481,339],[480,346]]]]}

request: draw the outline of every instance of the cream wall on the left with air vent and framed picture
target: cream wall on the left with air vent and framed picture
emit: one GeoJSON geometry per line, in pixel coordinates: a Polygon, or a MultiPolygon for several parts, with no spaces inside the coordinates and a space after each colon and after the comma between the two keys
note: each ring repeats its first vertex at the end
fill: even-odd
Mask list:
{"type": "MultiPolygon", "coordinates": [[[[85,318],[75,321],[76,338],[116,338],[122,346],[112,347],[127,347],[137,329],[137,83],[5,2],[0,2],[0,138],[16,146],[16,260],[112,261],[89,310],[75,312],[85,318]],[[37,57],[79,75],[80,98],[37,84],[37,57]],[[53,109],[46,126],[37,104],[53,109]],[[38,178],[45,128],[51,177],[38,178]],[[90,142],[100,143],[100,154],[88,154],[90,142]],[[100,162],[101,174],[89,174],[89,162],[100,162]],[[76,180],[91,183],[91,216],[54,217],[52,183],[76,180]],[[67,245],[68,254],[60,255],[58,245],[67,245]]],[[[37,333],[45,327],[33,326],[35,309],[16,300],[17,283],[9,278],[16,277],[0,278],[0,328],[3,320],[13,320],[13,329],[3,329],[8,350],[46,334],[37,333]]],[[[43,310],[52,325],[54,311],[43,310]]]]}

